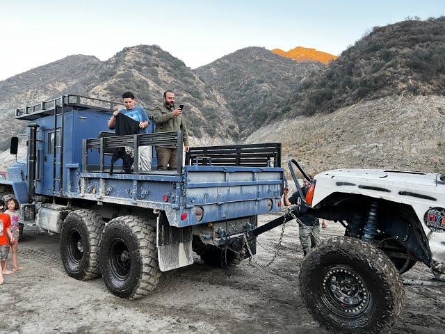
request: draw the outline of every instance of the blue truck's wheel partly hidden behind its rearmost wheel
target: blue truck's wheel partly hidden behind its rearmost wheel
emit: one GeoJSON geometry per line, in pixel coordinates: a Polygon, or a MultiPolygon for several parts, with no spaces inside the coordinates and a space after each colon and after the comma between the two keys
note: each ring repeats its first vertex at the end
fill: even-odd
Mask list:
{"type": "Polygon", "coordinates": [[[67,215],[60,231],[63,267],[77,280],[100,276],[99,242],[104,221],[92,210],[76,210],[67,215]]]}

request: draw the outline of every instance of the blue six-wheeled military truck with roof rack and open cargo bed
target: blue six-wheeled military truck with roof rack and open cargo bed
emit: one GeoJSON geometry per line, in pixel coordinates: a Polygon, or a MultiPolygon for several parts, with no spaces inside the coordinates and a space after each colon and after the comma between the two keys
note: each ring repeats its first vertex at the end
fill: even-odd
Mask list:
{"type": "MultiPolygon", "coordinates": [[[[8,168],[0,195],[21,205],[21,225],[60,233],[68,275],[102,275],[115,295],[138,299],[161,271],[193,263],[237,264],[255,252],[257,215],[282,205],[284,169],[279,143],[191,148],[181,132],[114,136],[107,121],[119,103],[63,95],[15,111],[26,120],[27,156],[8,168]],[[156,170],[156,145],[177,145],[177,170],[156,170]],[[149,146],[153,167],[138,170],[138,149],[149,146]],[[131,150],[129,150],[131,149],[131,150]],[[116,152],[133,155],[123,173],[116,152]]],[[[11,153],[17,154],[17,137],[11,153]]],[[[123,159],[122,159],[123,160],[123,159]]]]}

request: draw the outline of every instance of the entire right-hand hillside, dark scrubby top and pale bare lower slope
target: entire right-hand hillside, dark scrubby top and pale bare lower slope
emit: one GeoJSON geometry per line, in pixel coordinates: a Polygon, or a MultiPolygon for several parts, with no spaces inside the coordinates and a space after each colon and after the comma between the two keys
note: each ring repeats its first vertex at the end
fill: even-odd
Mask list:
{"type": "Polygon", "coordinates": [[[376,27],[303,81],[248,142],[280,141],[284,159],[313,173],[445,171],[444,92],[445,17],[376,27]]]}

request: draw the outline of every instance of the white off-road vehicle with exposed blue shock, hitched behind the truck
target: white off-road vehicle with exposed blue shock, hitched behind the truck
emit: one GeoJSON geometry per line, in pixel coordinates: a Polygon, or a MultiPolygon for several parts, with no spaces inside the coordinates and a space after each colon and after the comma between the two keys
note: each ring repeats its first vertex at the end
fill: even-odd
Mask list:
{"type": "Polygon", "coordinates": [[[401,312],[400,274],[417,261],[445,274],[445,175],[337,169],[319,173],[300,213],[338,221],[344,237],[314,248],[300,269],[300,289],[314,318],[341,333],[386,331],[401,312]]]}

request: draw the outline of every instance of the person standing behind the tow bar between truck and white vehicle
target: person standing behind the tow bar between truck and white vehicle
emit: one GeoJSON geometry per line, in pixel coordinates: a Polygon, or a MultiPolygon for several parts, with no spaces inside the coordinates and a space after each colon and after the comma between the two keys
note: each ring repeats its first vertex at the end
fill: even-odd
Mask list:
{"type": "MultiPolygon", "coordinates": [[[[302,192],[305,196],[309,190],[309,186],[309,181],[303,179],[302,192]]],[[[293,193],[290,198],[288,188],[284,188],[283,193],[284,205],[289,206],[297,204],[298,198],[300,198],[300,193],[298,193],[298,191],[293,193]]],[[[300,244],[303,248],[303,254],[306,256],[307,253],[309,253],[309,250],[318,244],[318,240],[320,239],[320,221],[315,216],[312,216],[312,214],[301,214],[298,216],[298,219],[305,224],[305,226],[303,226],[298,223],[298,234],[300,237],[300,244]]],[[[327,223],[324,219],[322,226],[323,228],[327,228],[327,223]]]]}

